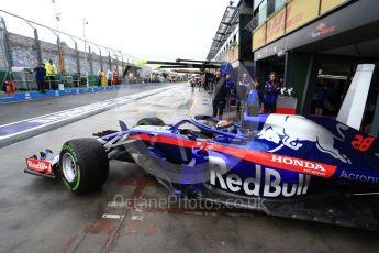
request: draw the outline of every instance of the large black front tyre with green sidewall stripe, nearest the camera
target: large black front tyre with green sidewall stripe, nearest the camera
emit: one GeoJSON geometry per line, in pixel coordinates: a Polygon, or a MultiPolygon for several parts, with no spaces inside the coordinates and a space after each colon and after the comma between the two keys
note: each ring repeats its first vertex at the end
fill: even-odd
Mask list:
{"type": "Polygon", "coordinates": [[[86,194],[100,188],[109,175],[105,150],[94,139],[66,142],[60,151],[59,165],[64,184],[75,194],[86,194]]]}

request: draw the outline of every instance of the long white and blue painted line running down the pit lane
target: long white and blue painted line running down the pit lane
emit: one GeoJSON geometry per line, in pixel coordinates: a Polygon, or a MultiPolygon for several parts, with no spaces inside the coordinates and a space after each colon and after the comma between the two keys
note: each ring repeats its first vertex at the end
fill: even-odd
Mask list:
{"type": "Polygon", "coordinates": [[[164,87],[164,88],[157,88],[154,90],[147,90],[147,91],[138,92],[138,94],[134,94],[134,95],[127,95],[127,96],[115,98],[115,99],[109,99],[109,100],[94,102],[91,105],[87,105],[87,106],[82,106],[82,107],[78,107],[78,108],[74,108],[74,109],[53,112],[53,113],[45,114],[45,116],[40,116],[40,117],[31,118],[31,119],[25,119],[25,120],[12,122],[12,123],[3,124],[3,125],[0,125],[0,129],[3,129],[5,127],[11,128],[12,125],[20,124],[23,122],[25,124],[38,123],[38,125],[36,125],[36,127],[31,127],[31,128],[27,128],[26,130],[16,131],[14,133],[2,135],[2,136],[0,136],[0,141],[12,138],[12,136],[16,136],[19,134],[27,133],[27,132],[31,132],[31,131],[34,131],[34,130],[37,130],[37,129],[41,129],[44,127],[56,124],[56,123],[59,123],[59,122],[63,122],[66,120],[75,119],[75,118],[78,118],[78,117],[81,117],[81,116],[85,116],[85,114],[88,114],[91,112],[105,111],[105,110],[109,110],[109,109],[114,108],[116,106],[122,106],[122,105],[125,105],[125,103],[131,102],[133,100],[142,99],[144,97],[156,95],[156,94],[159,94],[159,92],[163,92],[165,90],[172,89],[176,87],[179,87],[179,85],[164,87]]]}

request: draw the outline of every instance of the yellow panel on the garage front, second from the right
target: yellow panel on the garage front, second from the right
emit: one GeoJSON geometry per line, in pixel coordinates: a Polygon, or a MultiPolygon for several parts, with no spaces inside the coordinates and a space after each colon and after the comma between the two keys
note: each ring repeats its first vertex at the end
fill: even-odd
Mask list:
{"type": "Polygon", "coordinates": [[[320,0],[292,0],[287,7],[286,33],[319,15],[320,0]]]}

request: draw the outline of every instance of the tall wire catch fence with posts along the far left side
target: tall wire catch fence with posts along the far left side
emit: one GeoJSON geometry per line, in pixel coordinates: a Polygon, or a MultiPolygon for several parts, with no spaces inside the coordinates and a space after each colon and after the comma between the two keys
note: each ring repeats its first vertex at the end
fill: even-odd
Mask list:
{"type": "Polygon", "coordinates": [[[32,84],[34,78],[30,78],[30,70],[49,59],[57,66],[57,81],[68,86],[87,85],[82,79],[87,79],[87,75],[96,76],[99,70],[118,69],[122,74],[126,66],[134,64],[135,57],[119,50],[85,41],[3,10],[0,10],[0,13],[7,15],[7,22],[24,23],[31,31],[32,36],[10,32],[7,30],[5,20],[0,16],[0,72],[23,67],[24,70],[12,72],[13,80],[22,89],[36,87],[32,84]],[[41,36],[44,33],[49,33],[56,41],[44,40],[45,37],[41,36]]]}

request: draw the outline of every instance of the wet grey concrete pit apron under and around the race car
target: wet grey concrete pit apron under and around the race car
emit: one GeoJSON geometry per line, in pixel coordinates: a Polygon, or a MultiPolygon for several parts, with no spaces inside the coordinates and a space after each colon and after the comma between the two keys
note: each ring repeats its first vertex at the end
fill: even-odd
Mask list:
{"type": "Polygon", "coordinates": [[[0,148],[1,252],[379,252],[378,233],[260,212],[141,205],[167,191],[136,165],[111,162],[104,186],[75,196],[62,182],[23,174],[24,157],[69,139],[156,116],[210,113],[210,97],[172,87],[0,148]],[[121,205],[122,204],[122,205],[121,205]]]}

